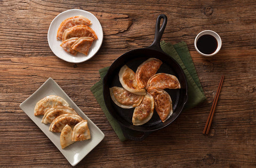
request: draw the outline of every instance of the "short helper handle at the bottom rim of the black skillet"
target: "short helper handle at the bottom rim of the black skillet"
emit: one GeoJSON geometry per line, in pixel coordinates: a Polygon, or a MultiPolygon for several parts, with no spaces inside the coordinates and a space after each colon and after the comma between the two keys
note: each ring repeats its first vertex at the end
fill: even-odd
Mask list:
{"type": "Polygon", "coordinates": [[[142,141],[144,140],[147,136],[150,135],[150,131],[148,132],[140,132],[140,131],[134,131],[134,130],[130,130],[128,128],[125,127],[121,127],[124,137],[130,140],[135,140],[135,141],[142,141]]]}

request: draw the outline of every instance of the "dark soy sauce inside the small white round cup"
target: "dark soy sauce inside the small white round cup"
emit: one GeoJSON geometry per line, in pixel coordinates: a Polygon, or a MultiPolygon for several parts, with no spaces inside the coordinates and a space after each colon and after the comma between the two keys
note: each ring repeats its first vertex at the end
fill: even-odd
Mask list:
{"type": "Polygon", "coordinates": [[[203,35],[198,38],[196,46],[204,54],[212,54],[218,47],[218,42],[212,35],[203,35]]]}

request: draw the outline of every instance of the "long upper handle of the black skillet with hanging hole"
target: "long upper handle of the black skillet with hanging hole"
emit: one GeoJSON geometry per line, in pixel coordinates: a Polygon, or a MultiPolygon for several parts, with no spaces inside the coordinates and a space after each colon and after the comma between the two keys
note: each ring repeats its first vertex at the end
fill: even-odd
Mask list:
{"type": "Polygon", "coordinates": [[[157,20],[156,20],[155,38],[154,38],[153,43],[148,48],[156,49],[157,51],[162,51],[161,46],[160,46],[160,40],[163,36],[166,24],[167,24],[167,16],[165,14],[158,15],[157,20]],[[161,19],[163,19],[163,24],[160,28],[161,19]]]}

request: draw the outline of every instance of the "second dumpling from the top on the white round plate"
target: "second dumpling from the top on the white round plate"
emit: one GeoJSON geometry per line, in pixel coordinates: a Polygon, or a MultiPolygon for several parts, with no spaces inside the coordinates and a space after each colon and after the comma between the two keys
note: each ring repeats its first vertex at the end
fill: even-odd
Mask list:
{"type": "Polygon", "coordinates": [[[98,39],[94,30],[86,25],[77,25],[66,29],[63,32],[62,41],[72,37],[92,37],[94,40],[98,39]]]}

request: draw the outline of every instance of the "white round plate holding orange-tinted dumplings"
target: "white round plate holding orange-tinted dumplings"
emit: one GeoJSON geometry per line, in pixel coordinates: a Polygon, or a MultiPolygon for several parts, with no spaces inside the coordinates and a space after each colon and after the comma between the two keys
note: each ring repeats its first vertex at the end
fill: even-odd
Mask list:
{"type": "Polygon", "coordinates": [[[73,10],[62,12],[53,19],[48,30],[47,39],[52,52],[56,56],[58,56],[59,58],[67,62],[81,63],[89,60],[99,51],[103,41],[103,31],[102,31],[102,27],[99,20],[92,13],[84,10],[73,9],[73,10]],[[96,35],[98,36],[98,39],[93,41],[93,44],[90,48],[88,55],[84,55],[82,53],[77,53],[77,55],[72,55],[66,52],[60,46],[61,40],[57,40],[57,37],[56,37],[60,23],[69,17],[77,16],[77,15],[83,15],[86,18],[88,18],[92,22],[90,27],[95,31],[96,35]]]}

